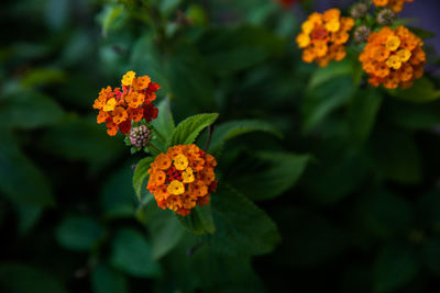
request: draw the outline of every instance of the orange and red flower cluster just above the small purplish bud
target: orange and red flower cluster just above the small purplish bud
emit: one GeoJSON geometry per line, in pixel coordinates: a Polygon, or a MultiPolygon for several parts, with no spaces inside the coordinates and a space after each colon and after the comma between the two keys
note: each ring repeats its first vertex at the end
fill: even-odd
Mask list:
{"type": "Polygon", "coordinates": [[[94,109],[99,110],[97,122],[107,125],[107,133],[117,135],[118,131],[129,134],[131,122],[146,122],[157,117],[157,108],[153,101],[156,99],[156,91],[161,88],[152,82],[150,77],[135,77],[135,72],[127,72],[121,82],[121,88],[107,87],[99,92],[95,100],[94,109]]]}

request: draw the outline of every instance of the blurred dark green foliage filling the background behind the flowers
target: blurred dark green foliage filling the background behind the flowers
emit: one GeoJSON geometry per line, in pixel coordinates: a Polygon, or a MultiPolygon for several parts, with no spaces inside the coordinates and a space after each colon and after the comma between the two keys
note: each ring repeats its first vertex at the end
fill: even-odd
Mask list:
{"type": "Polygon", "coordinates": [[[428,48],[410,91],[367,87],[355,52],[306,65],[294,35],[314,4],[3,1],[0,291],[437,292],[439,59],[428,48]],[[91,111],[128,70],[163,86],[177,122],[219,112],[220,123],[268,123],[244,122],[262,132],[228,142],[231,185],[212,198],[213,210],[262,209],[244,215],[252,232],[231,232],[245,250],[221,235],[201,245],[138,201],[142,156],[91,111]],[[234,192],[246,198],[228,201],[234,192]]]}

